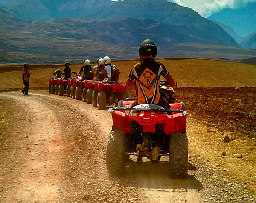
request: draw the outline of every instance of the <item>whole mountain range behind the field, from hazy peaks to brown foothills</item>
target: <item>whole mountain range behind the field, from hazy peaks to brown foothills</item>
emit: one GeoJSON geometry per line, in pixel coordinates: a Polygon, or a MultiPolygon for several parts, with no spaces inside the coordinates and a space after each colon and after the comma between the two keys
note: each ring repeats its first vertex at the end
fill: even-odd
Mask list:
{"type": "Polygon", "coordinates": [[[22,55],[32,61],[62,62],[106,53],[132,59],[147,38],[163,47],[158,54],[162,57],[237,59],[255,54],[239,48],[221,26],[166,0],[8,0],[0,7],[0,59],[5,62],[21,61],[22,55]]]}

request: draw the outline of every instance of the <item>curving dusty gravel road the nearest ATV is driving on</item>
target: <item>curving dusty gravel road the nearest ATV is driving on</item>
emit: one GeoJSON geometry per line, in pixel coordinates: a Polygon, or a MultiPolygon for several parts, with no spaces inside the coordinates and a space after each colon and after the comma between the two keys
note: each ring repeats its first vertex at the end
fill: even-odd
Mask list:
{"type": "MultiPolygon", "coordinates": [[[[0,115],[0,202],[256,201],[244,185],[193,151],[184,180],[169,178],[165,160],[140,166],[130,161],[125,175],[110,177],[105,147],[111,115],[91,104],[66,96],[0,93],[0,115]]],[[[198,142],[189,128],[197,128],[192,119],[189,142],[198,142]]]]}

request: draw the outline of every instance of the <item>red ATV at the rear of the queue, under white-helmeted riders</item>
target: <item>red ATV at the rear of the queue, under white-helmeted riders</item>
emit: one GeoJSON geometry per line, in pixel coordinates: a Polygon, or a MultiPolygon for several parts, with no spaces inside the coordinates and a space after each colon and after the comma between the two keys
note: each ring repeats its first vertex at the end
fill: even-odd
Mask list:
{"type": "Polygon", "coordinates": [[[115,106],[117,106],[118,101],[126,101],[126,98],[129,97],[126,89],[127,86],[123,82],[96,82],[92,93],[93,107],[98,107],[99,110],[103,110],[107,102],[109,102],[110,105],[115,104],[115,106]]]}

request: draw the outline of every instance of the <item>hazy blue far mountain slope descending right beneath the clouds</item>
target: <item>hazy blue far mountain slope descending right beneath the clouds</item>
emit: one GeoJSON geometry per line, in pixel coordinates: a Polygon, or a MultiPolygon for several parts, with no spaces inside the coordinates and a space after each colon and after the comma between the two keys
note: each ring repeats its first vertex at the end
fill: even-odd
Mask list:
{"type": "Polygon", "coordinates": [[[106,8],[104,12],[91,14],[89,17],[105,19],[142,17],[163,21],[169,24],[189,25],[209,35],[218,37],[217,43],[212,44],[239,47],[239,44],[215,23],[201,17],[191,8],[182,7],[166,0],[150,0],[150,3],[148,0],[116,1],[116,3],[109,8],[106,8]]]}

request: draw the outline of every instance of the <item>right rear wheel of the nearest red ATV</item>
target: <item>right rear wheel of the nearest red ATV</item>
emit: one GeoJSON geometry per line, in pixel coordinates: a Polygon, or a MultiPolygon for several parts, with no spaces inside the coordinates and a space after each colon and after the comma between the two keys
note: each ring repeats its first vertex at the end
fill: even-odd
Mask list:
{"type": "Polygon", "coordinates": [[[173,133],[169,142],[169,174],[184,178],[188,172],[188,138],[186,133],[173,133]]]}

